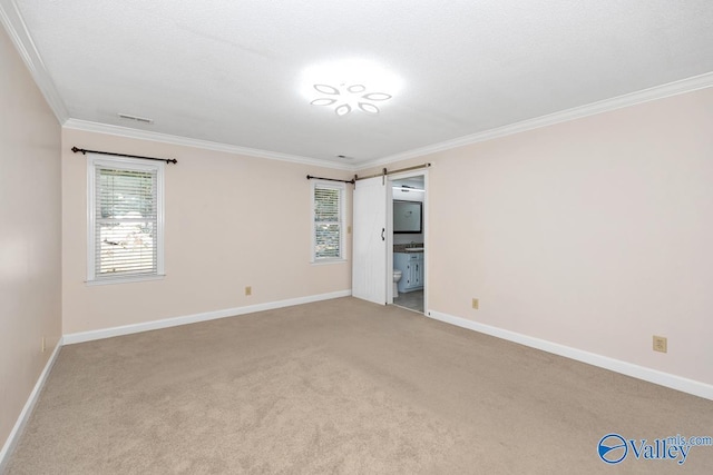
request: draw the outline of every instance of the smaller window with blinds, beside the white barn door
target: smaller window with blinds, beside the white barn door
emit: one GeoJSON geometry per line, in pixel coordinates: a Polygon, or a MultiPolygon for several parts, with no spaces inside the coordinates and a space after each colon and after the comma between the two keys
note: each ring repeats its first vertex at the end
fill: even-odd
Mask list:
{"type": "Polygon", "coordinates": [[[343,260],[344,185],[312,182],[313,261],[343,260]]]}

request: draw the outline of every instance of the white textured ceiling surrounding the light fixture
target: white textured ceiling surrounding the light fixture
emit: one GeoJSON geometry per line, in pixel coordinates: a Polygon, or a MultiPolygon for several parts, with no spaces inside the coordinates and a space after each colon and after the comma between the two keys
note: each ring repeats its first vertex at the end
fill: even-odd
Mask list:
{"type": "Polygon", "coordinates": [[[694,77],[695,87],[713,85],[711,0],[0,0],[0,7],[62,122],[339,168],[694,77]],[[381,112],[336,117],[311,106],[299,89],[305,68],[353,58],[401,78],[381,112]]]}

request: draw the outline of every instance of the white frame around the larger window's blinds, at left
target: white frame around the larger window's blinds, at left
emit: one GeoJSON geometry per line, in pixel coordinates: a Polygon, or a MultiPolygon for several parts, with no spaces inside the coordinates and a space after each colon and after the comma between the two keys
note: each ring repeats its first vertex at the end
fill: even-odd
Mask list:
{"type": "Polygon", "coordinates": [[[87,156],[87,280],[88,285],[106,285],[156,280],[165,277],[164,269],[164,170],[165,164],[147,162],[131,158],[105,158],[88,154],[87,156]],[[96,207],[97,207],[97,168],[114,168],[131,171],[156,172],[156,273],[125,274],[121,276],[98,276],[96,255],[96,207]]]}

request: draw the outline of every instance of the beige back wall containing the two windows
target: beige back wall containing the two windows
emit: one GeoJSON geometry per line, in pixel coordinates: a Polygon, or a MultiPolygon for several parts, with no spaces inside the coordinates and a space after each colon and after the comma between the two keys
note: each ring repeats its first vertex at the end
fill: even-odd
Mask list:
{"type": "MultiPolygon", "coordinates": [[[[350,176],[346,171],[65,128],[64,333],[350,290],[349,261],[310,264],[307,174],[350,176]],[[72,146],[178,160],[178,165],[166,167],[165,175],[165,279],[85,284],[87,160],[72,154],[72,146]],[[252,286],[252,296],[244,295],[245,286],[252,286]]],[[[349,187],[345,195],[351,209],[349,187]]],[[[350,257],[351,239],[346,245],[350,257]]]]}

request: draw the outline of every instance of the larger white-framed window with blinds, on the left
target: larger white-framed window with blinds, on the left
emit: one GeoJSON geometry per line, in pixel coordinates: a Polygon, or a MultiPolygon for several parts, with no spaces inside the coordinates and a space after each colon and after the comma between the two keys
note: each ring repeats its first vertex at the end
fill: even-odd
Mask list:
{"type": "Polygon", "coordinates": [[[87,280],[117,283],[164,274],[164,164],[89,158],[87,280]]]}

